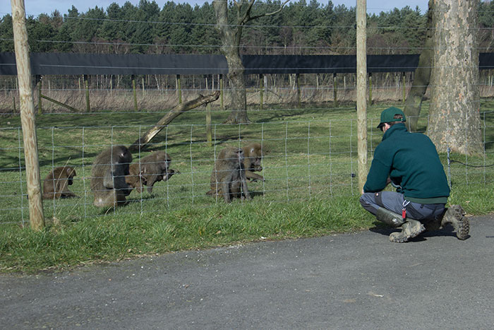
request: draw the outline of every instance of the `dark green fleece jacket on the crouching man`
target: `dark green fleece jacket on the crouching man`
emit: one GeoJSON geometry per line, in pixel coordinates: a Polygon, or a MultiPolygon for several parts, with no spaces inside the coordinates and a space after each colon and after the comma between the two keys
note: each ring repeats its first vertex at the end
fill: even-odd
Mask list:
{"type": "Polygon", "coordinates": [[[375,148],[363,191],[381,191],[387,185],[387,177],[405,199],[415,203],[446,203],[450,196],[434,143],[425,134],[409,133],[401,123],[387,129],[375,148]]]}

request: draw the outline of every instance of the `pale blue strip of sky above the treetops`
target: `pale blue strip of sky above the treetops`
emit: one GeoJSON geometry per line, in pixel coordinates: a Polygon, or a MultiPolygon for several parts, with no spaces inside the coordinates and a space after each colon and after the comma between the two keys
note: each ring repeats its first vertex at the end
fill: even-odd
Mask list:
{"type": "MultiPolygon", "coordinates": [[[[131,4],[139,4],[139,0],[127,0],[131,4]]],[[[211,3],[212,0],[174,0],[176,4],[188,2],[191,6],[198,4],[202,6],[205,2],[211,3]]],[[[296,0],[292,0],[295,2],[296,0]]],[[[126,3],[126,0],[24,0],[25,11],[28,16],[37,16],[40,13],[51,14],[53,11],[58,10],[62,15],[68,13],[68,9],[75,6],[79,13],[84,13],[90,8],[95,6],[103,7],[106,9],[109,4],[116,2],[120,6],[126,3]]],[[[155,0],[160,8],[163,8],[167,0],[155,0]]],[[[306,0],[307,3],[310,0],[306,0]]],[[[327,0],[320,0],[321,4],[327,4],[327,0]]],[[[356,0],[332,0],[334,6],[344,4],[349,7],[356,6],[356,0]]],[[[415,9],[416,6],[420,8],[421,13],[426,13],[428,0],[367,0],[367,13],[380,13],[381,11],[391,11],[393,8],[403,8],[409,6],[411,9],[415,9]]],[[[6,13],[11,13],[11,1],[0,0],[0,17],[6,13]]]]}

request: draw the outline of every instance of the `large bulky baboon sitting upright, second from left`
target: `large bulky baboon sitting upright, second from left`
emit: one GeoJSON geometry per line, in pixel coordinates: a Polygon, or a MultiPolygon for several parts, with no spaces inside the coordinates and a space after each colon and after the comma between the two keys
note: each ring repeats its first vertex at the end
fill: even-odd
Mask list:
{"type": "Polygon", "coordinates": [[[126,146],[105,149],[92,163],[91,189],[95,194],[95,206],[119,206],[125,204],[131,193],[125,177],[132,162],[132,154],[126,146]]]}

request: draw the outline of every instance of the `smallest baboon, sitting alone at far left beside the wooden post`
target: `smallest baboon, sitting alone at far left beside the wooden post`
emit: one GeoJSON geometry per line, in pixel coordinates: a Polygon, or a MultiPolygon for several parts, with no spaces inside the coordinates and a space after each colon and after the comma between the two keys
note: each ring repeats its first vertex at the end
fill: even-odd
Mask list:
{"type": "Polygon", "coordinates": [[[55,167],[43,181],[43,199],[78,197],[68,189],[73,184],[76,170],[70,166],[55,167]]]}

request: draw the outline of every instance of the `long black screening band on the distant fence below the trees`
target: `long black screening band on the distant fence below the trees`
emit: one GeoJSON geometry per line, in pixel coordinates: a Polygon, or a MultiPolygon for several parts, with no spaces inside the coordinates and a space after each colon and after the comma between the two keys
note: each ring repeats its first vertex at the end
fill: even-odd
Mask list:
{"type": "MultiPolygon", "coordinates": [[[[410,72],[419,54],[368,55],[367,71],[410,72]]],[[[101,74],[226,74],[223,55],[195,54],[30,54],[33,75],[101,74]]],[[[243,55],[246,74],[256,73],[355,73],[355,55],[243,55]]],[[[494,69],[494,53],[479,54],[479,69],[494,69]]],[[[0,75],[16,75],[16,57],[0,53],[0,75]]]]}

